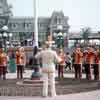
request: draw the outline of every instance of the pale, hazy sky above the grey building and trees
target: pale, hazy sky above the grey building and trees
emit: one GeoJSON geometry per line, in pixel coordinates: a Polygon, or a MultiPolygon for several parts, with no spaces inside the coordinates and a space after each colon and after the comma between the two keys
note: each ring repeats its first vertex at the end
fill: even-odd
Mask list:
{"type": "MultiPolygon", "coordinates": [[[[53,11],[63,11],[69,17],[70,31],[90,27],[100,31],[100,0],[36,0],[38,16],[50,17],[53,11]]],[[[8,0],[14,16],[34,16],[33,0],[8,0]]]]}

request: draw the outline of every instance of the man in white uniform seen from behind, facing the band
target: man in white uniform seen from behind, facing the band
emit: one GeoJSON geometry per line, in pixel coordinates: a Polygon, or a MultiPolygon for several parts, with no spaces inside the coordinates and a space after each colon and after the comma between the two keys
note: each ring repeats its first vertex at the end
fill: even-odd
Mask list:
{"type": "Polygon", "coordinates": [[[55,61],[60,62],[56,52],[51,50],[50,45],[45,43],[45,49],[36,55],[36,58],[42,59],[43,73],[43,96],[48,95],[48,83],[51,87],[51,96],[56,96],[55,89],[55,61]]]}

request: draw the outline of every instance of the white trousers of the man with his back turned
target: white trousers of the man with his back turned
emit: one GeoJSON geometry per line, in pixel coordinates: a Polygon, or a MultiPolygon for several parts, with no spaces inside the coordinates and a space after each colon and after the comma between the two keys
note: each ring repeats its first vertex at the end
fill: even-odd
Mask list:
{"type": "Polygon", "coordinates": [[[48,96],[48,86],[50,85],[51,96],[56,96],[55,73],[43,73],[43,96],[48,96]]]}

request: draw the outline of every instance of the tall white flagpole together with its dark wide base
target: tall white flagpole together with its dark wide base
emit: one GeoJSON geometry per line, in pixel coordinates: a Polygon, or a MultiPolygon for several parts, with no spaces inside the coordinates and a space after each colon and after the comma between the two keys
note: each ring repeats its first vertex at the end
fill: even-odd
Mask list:
{"type": "MultiPolygon", "coordinates": [[[[33,56],[35,56],[37,54],[37,51],[38,51],[38,12],[37,12],[37,2],[38,0],[33,0],[33,3],[34,3],[34,34],[33,34],[33,43],[34,43],[34,53],[33,53],[33,56]]],[[[31,79],[40,79],[41,77],[41,74],[40,74],[40,67],[39,67],[39,63],[38,63],[38,59],[34,58],[33,59],[34,61],[34,72],[32,72],[32,75],[31,75],[31,79]]]]}

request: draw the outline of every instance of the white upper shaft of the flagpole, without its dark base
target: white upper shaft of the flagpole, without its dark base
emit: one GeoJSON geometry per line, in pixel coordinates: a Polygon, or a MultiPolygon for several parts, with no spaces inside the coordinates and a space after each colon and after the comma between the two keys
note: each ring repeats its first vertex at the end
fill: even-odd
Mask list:
{"type": "Polygon", "coordinates": [[[37,1],[34,1],[34,39],[35,45],[38,47],[38,12],[37,12],[37,1]]]}

